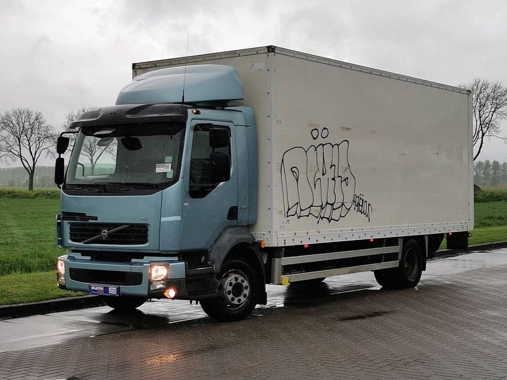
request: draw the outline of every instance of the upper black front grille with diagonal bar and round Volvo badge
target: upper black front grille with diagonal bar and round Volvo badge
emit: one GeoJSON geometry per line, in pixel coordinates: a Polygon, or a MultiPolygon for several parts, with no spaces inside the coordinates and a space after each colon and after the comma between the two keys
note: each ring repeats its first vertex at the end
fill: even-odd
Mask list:
{"type": "Polygon", "coordinates": [[[146,244],[147,224],[70,223],[70,240],[83,244],[146,244]]]}

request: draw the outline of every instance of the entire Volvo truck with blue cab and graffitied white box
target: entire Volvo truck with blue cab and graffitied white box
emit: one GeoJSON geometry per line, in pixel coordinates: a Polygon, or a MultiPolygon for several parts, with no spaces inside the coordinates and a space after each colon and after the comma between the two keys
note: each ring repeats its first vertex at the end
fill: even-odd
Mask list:
{"type": "Polygon", "coordinates": [[[414,288],[445,238],[467,248],[470,91],[275,46],[132,71],[57,141],[61,289],[237,321],[266,284],[414,288]]]}

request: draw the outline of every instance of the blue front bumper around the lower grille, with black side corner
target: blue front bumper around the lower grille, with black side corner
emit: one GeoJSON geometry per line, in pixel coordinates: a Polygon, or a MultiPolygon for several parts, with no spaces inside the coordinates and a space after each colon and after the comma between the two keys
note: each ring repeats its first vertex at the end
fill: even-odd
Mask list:
{"type": "MultiPolygon", "coordinates": [[[[95,261],[78,252],[69,252],[59,257],[65,263],[65,284],[58,282],[60,289],[88,292],[88,286],[118,286],[120,295],[166,298],[167,289],[174,289],[174,299],[203,299],[216,296],[218,279],[212,270],[193,273],[186,270],[186,262],[177,257],[144,257],[131,262],[95,261]],[[152,289],[149,280],[151,264],[169,265],[169,275],[164,286],[152,289]]],[[[158,281],[160,283],[160,281],[158,281]]]]}

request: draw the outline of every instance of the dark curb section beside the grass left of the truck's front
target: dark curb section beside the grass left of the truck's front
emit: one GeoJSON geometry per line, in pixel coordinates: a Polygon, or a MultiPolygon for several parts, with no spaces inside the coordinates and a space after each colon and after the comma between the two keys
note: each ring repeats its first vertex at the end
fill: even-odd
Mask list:
{"type": "Polygon", "coordinates": [[[68,310],[93,308],[104,304],[96,295],[82,295],[48,299],[32,303],[16,303],[15,305],[0,306],[0,319],[26,317],[29,315],[64,312],[68,310]]]}

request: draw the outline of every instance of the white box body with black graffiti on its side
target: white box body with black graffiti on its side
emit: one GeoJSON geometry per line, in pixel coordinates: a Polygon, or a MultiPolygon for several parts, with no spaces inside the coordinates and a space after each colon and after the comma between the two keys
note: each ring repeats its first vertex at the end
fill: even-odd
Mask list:
{"type": "Polygon", "coordinates": [[[258,219],[280,247],[474,227],[469,91],[278,47],[133,64],[234,66],[255,110],[258,219]]]}

